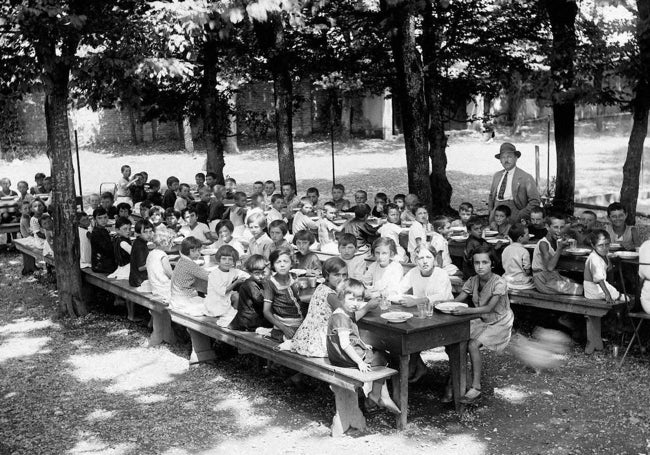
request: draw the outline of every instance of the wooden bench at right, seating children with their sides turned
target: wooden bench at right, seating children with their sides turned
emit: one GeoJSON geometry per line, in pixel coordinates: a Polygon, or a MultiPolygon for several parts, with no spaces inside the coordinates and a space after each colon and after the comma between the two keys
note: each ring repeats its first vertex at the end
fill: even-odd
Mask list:
{"type": "Polygon", "coordinates": [[[587,346],[585,353],[603,350],[601,319],[611,310],[621,311],[625,304],[610,305],[604,300],[590,300],[573,295],[549,295],[537,291],[508,291],[510,303],[565,313],[582,314],[587,322],[587,346]]]}

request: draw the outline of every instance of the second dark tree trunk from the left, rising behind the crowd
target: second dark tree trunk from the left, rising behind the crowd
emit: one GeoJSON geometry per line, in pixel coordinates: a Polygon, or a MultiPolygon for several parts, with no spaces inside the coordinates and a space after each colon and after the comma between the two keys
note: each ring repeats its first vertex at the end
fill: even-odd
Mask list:
{"type": "Polygon", "coordinates": [[[217,91],[217,42],[208,38],[203,45],[203,130],[207,149],[206,170],[217,174],[217,183],[223,185],[225,179],[223,168],[226,161],[223,156],[223,132],[225,131],[226,113],[224,102],[217,91]]]}

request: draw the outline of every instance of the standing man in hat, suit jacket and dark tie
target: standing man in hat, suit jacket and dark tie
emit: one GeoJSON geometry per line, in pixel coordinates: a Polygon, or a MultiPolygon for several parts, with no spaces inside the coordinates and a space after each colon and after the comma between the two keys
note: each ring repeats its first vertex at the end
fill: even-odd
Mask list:
{"type": "Polygon", "coordinates": [[[521,222],[529,217],[533,207],[539,207],[540,197],[535,179],[517,167],[521,152],[513,144],[504,142],[494,156],[501,161],[504,170],[492,178],[488,199],[490,220],[494,218],[495,207],[507,205],[512,211],[510,222],[521,222]]]}

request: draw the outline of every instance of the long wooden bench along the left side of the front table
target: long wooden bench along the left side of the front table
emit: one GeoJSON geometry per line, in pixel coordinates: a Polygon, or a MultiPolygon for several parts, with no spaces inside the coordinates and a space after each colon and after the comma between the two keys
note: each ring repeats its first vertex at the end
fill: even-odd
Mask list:
{"type": "MultiPolygon", "coordinates": [[[[25,254],[42,260],[38,248],[24,242],[18,248],[25,254]]],[[[53,263],[52,258],[49,260],[53,263]]],[[[192,339],[190,364],[211,361],[216,358],[211,339],[227,343],[243,353],[255,354],[264,359],[291,368],[330,384],[334,392],[336,414],[332,420],[332,435],[340,436],[350,427],[365,429],[366,420],[359,409],[357,389],[365,382],[387,379],[397,374],[397,370],[388,367],[373,367],[372,371],[362,373],[355,368],[341,368],[329,363],[327,359],[305,357],[293,352],[278,351],[278,342],[267,339],[254,332],[241,332],[220,327],[215,318],[196,317],[170,310],[167,304],[150,293],[139,292],[129,285],[128,280],[111,280],[106,275],[81,269],[85,283],[103,289],[113,295],[122,297],[148,308],[153,321],[153,333],[149,345],[161,341],[173,344],[176,337],[171,328],[173,321],[187,329],[192,339]]]]}

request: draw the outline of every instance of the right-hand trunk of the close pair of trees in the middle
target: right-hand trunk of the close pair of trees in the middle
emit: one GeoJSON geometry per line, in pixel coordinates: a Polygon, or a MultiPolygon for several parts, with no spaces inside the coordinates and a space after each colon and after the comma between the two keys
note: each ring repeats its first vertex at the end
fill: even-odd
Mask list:
{"type": "MultiPolygon", "coordinates": [[[[429,107],[429,156],[431,157],[431,210],[435,214],[454,214],[451,208],[453,188],[447,179],[447,135],[443,116],[442,90],[439,84],[439,62],[437,58],[441,43],[439,33],[433,25],[431,1],[427,1],[422,22],[422,55],[424,66],[424,87],[429,107]]],[[[463,106],[463,114],[465,114],[463,106]]]]}

